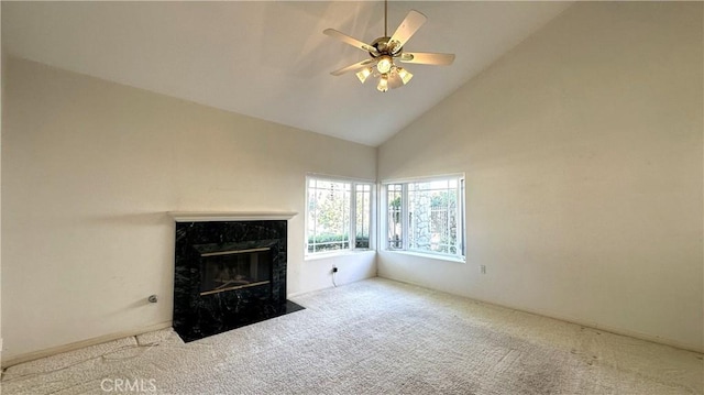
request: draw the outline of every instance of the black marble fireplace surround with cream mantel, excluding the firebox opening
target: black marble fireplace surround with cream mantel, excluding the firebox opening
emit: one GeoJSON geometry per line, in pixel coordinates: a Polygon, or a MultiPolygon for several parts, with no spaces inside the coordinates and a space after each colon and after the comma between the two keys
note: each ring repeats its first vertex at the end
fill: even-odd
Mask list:
{"type": "MultiPolygon", "coordinates": [[[[175,226],[174,329],[186,342],[302,309],[286,300],[288,220],[296,212],[172,211],[175,226]],[[212,253],[265,249],[271,281],[204,293],[212,253]]],[[[268,279],[267,278],[267,279],[268,279]]]]}

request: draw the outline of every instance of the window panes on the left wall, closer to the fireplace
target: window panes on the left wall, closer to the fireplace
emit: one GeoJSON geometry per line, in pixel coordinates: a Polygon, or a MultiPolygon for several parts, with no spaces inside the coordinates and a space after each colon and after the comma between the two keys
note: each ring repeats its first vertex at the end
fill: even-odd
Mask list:
{"type": "Polygon", "coordinates": [[[366,182],[307,177],[307,252],[370,248],[372,190],[366,182]]]}

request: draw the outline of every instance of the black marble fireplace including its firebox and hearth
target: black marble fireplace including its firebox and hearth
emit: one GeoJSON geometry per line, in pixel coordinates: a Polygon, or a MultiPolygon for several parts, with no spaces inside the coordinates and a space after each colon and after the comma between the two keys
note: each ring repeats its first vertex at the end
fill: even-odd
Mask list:
{"type": "Polygon", "coordinates": [[[287,220],[172,215],[174,329],[184,341],[302,309],[286,300],[287,220]]]}

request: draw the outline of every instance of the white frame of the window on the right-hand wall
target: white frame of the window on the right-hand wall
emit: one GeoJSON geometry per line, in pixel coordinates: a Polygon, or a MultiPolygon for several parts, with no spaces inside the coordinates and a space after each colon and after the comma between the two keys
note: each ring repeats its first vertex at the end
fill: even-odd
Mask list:
{"type": "Polygon", "coordinates": [[[381,183],[380,186],[380,212],[382,212],[382,223],[380,229],[380,235],[383,235],[384,240],[380,239],[381,245],[383,245],[384,251],[405,253],[411,255],[420,255],[432,259],[440,259],[453,262],[466,262],[466,182],[463,173],[458,174],[447,174],[447,175],[438,175],[438,176],[424,176],[424,177],[413,177],[413,178],[402,178],[402,179],[386,179],[381,183]],[[458,226],[458,248],[457,253],[443,253],[437,251],[427,251],[427,250],[418,250],[410,248],[410,238],[409,238],[409,184],[415,183],[430,183],[430,182],[443,182],[449,179],[457,179],[458,182],[458,204],[457,204],[457,226],[458,226]],[[395,248],[392,246],[392,241],[389,240],[389,185],[400,185],[402,186],[402,206],[400,206],[400,224],[402,224],[402,246],[395,248]]]}

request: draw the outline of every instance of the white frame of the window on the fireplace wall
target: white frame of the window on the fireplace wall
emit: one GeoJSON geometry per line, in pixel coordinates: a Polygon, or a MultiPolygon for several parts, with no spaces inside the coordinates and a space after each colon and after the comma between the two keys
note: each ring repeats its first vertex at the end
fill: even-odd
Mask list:
{"type": "Polygon", "coordinates": [[[324,256],[330,256],[330,255],[341,255],[341,254],[349,254],[349,253],[354,253],[354,252],[365,252],[365,251],[372,251],[375,250],[376,248],[376,243],[375,243],[375,234],[376,234],[376,221],[375,221],[375,216],[376,216],[376,188],[377,188],[377,184],[374,180],[371,179],[364,179],[364,178],[352,178],[352,177],[344,177],[344,176],[333,176],[333,175],[326,175],[326,174],[315,174],[315,173],[309,173],[306,174],[306,187],[305,187],[305,194],[306,194],[306,207],[305,207],[305,235],[304,235],[304,255],[306,260],[309,259],[317,259],[317,257],[324,257],[324,256]],[[309,240],[309,231],[310,231],[310,212],[309,212],[309,208],[310,208],[310,193],[309,193],[309,186],[310,186],[310,180],[311,179],[316,179],[316,180],[323,180],[323,182],[331,182],[331,183],[343,183],[343,184],[350,184],[350,207],[349,207],[349,218],[350,218],[350,224],[349,224],[349,239],[348,239],[348,243],[349,246],[346,249],[338,249],[338,250],[329,250],[329,251],[317,251],[317,252],[310,252],[308,251],[308,240],[309,240]],[[358,185],[367,185],[369,186],[369,194],[370,194],[370,213],[369,217],[366,218],[366,221],[369,223],[369,246],[366,248],[358,248],[356,246],[356,208],[358,208],[358,204],[356,204],[356,197],[358,197],[358,190],[356,190],[356,186],[358,185]]]}

